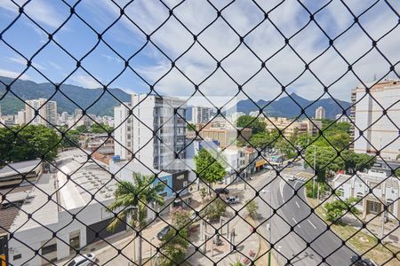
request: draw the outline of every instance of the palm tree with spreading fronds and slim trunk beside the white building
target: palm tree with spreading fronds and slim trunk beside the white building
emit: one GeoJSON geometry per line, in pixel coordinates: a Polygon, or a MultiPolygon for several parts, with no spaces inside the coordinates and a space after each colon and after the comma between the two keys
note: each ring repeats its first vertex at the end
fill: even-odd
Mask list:
{"type": "Polygon", "coordinates": [[[146,227],[146,214],[151,202],[164,205],[160,192],[165,184],[155,184],[155,176],[144,176],[133,173],[133,182],[120,181],[114,192],[115,200],[108,206],[109,212],[117,212],[116,217],[108,224],[108,230],[113,231],[119,223],[131,218],[131,226],[139,231],[139,265],[141,265],[141,230],[146,227]]]}

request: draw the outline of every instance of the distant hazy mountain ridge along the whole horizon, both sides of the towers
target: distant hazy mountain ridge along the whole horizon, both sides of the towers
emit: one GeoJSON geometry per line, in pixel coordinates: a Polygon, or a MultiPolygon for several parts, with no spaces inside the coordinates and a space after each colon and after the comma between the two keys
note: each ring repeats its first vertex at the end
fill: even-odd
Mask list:
{"type": "MultiPolygon", "coordinates": [[[[5,84],[10,84],[14,81],[12,78],[0,76],[0,106],[2,113],[13,114],[24,108],[24,103],[8,92],[6,93],[5,84]]],[[[60,91],[56,91],[54,85],[50,82],[37,83],[33,81],[17,80],[12,83],[12,92],[18,95],[23,100],[34,99],[34,98],[51,98],[57,101],[58,113],[68,112],[74,113],[76,108],[82,107],[88,108],[87,113],[94,113],[96,115],[113,115],[114,106],[118,106],[121,102],[131,101],[131,95],[121,89],[87,89],[81,86],[62,84],[60,85],[60,91]],[[109,91],[109,92],[108,92],[109,91]],[[68,98],[66,98],[61,92],[66,94],[68,98],[71,98],[76,102],[76,106],[68,98]],[[54,94],[54,95],[53,95],[54,94]],[[97,100],[97,98],[100,98],[97,100]],[[116,98],[119,100],[116,100],[116,98]]],[[[348,109],[350,103],[336,99],[343,109],[348,109]]],[[[264,112],[269,116],[282,116],[282,117],[295,117],[301,114],[301,107],[306,108],[306,114],[309,117],[314,117],[316,108],[323,106],[326,111],[326,118],[333,119],[336,114],[342,113],[342,109],[332,98],[322,98],[317,101],[308,100],[302,98],[296,93],[292,93],[289,96],[278,98],[274,101],[259,99],[256,101],[260,107],[265,107],[264,112]],[[294,101],[293,101],[294,99],[294,101]],[[297,103],[297,104],[296,104],[297,103]]],[[[252,103],[250,99],[244,99],[237,102],[236,107],[233,107],[227,111],[227,113],[243,112],[250,113],[252,111],[258,111],[259,107],[252,103]]],[[[188,121],[191,120],[191,108],[188,108],[186,118],[188,121]]]]}

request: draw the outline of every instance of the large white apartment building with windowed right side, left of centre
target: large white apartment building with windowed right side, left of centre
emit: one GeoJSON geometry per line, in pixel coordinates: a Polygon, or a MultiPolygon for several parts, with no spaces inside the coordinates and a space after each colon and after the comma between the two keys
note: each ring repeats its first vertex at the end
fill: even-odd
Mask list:
{"type": "MultiPolygon", "coordinates": [[[[176,169],[175,153],[185,159],[186,105],[184,100],[156,95],[133,94],[132,115],[126,107],[115,108],[115,154],[135,159],[156,169],[176,169]],[[124,120],[132,118],[132,120],[124,120]],[[119,130],[118,125],[121,129],[119,130]],[[128,134],[132,130],[131,134],[128,134]],[[126,151],[124,147],[128,147],[126,151]],[[172,166],[172,164],[174,164],[172,166]]],[[[183,166],[182,166],[183,168],[183,166]]]]}

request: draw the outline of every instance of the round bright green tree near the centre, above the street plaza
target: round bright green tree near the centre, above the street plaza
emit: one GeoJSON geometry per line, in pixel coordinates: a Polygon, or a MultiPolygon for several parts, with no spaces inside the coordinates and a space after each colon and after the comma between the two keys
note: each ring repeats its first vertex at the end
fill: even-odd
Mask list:
{"type": "Polygon", "coordinates": [[[221,157],[217,157],[218,155],[216,153],[213,151],[210,153],[204,148],[200,149],[195,156],[196,173],[203,182],[208,183],[210,187],[212,187],[212,183],[222,181],[227,175],[227,171],[222,166],[225,163],[223,163],[221,157]]]}

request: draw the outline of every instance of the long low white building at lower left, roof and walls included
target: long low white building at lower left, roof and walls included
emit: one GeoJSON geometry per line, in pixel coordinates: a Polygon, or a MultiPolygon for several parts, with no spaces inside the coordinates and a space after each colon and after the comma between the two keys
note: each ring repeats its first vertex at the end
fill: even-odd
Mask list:
{"type": "Polygon", "coordinates": [[[12,265],[48,264],[44,258],[54,262],[75,254],[70,246],[83,248],[126,230],[124,223],[116,231],[105,229],[113,217],[105,206],[114,200],[116,180],[110,180],[110,174],[102,169],[107,165],[86,161],[87,155],[81,153],[69,151],[61,154],[57,162],[64,173],[71,175],[70,180],[60,171],[55,175],[44,174],[28,192],[10,227],[13,238],[8,241],[8,249],[12,265]],[[77,214],[75,219],[74,214],[77,214]],[[57,232],[56,238],[52,231],[57,232]],[[100,237],[96,237],[96,232],[100,237]],[[35,250],[41,256],[35,255],[35,250]]]}

